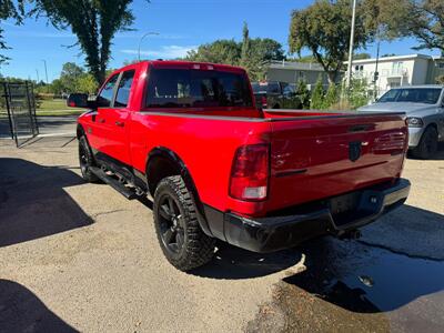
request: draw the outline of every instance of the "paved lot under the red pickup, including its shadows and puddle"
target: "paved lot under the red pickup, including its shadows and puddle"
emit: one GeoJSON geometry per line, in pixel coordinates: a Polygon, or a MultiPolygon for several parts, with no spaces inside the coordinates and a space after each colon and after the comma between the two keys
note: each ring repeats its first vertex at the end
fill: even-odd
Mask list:
{"type": "Polygon", "coordinates": [[[443,332],[444,153],[406,161],[407,204],[360,241],[221,244],[185,274],[150,202],[83,183],[71,140],[0,141],[0,332],[443,332]]]}

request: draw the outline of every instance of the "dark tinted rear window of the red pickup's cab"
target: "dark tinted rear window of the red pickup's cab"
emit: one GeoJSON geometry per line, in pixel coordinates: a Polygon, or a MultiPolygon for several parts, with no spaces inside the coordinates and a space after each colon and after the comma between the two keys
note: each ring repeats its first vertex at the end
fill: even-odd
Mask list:
{"type": "Polygon", "coordinates": [[[252,107],[246,75],[223,71],[152,69],[147,108],[252,107]]]}

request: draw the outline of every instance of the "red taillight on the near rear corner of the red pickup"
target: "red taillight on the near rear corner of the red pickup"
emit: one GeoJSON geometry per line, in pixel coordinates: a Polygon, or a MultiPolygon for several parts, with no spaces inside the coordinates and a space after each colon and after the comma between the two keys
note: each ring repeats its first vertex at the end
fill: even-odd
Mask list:
{"type": "Polygon", "coordinates": [[[231,169],[230,195],[245,201],[264,200],[268,192],[269,173],[268,144],[239,148],[231,169]]]}

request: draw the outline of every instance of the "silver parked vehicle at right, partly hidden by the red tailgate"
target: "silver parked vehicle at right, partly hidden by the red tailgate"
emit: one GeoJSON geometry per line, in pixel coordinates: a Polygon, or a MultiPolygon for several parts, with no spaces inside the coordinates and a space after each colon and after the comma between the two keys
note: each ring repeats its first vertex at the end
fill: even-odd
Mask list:
{"type": "Polygon", "coordinates": [[[431,159],[444,140],[444,87],[412,85],[389,90],[360,112],[401,111],[407,115],[408,149],[420,159],[431,159]]]}

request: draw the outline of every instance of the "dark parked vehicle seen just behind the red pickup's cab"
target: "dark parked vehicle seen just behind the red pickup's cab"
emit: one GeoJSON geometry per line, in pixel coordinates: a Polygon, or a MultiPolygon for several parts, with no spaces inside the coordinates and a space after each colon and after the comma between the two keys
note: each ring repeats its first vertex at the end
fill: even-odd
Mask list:
{"type": "Polygon", "coordinates": [[[300,109],[301,101],[295,93],[295,84],[278,81],[251,83],[256,105],[262,109],[300,109]]]}

